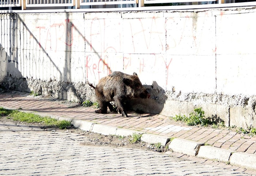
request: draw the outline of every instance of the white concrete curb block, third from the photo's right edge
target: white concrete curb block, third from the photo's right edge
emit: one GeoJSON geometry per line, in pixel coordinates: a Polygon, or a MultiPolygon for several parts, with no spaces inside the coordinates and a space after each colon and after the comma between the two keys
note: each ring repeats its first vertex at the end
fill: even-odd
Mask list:
{"type": "Polygon", "coordinates": [[[172,149],[174,152],[196,156],[202,145],[204,144],[187,139],[174,138],[169,145],[169,149],[172,149]]]}

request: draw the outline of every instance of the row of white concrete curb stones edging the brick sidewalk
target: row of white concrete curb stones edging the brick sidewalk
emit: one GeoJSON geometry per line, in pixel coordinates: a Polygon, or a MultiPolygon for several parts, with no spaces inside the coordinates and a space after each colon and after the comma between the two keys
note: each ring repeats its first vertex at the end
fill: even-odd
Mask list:
{"type": "MultiPolygon", "coordinates": [[[[135,130],[121,129],[118,127],[96,124],[84,120],[72,120],[72,124],[81,130],[91,131],[94,133],[100,133],[104,135],[128,136],[132,135],[133,133],[142,134],[141,140],[147,142],[148,144],[161,143],[161,145],[165,146],[170,141],[169,137],[165,137],[162,135],[142,133],[140,131],[135,130]]],[[[172,149],[174,152],[184,153],[189,156],[197,156],[209,160],[221,161],[225,163],[230,163],[231,165],[236,165],[238,167],[256,170],[256,155],[254,154],[234,152],[232,150],[227,149],[220,149],[217,147],[204,145],[203,143],[181,138],[174,138],[170,142],[168,148],[172,149]]]]}

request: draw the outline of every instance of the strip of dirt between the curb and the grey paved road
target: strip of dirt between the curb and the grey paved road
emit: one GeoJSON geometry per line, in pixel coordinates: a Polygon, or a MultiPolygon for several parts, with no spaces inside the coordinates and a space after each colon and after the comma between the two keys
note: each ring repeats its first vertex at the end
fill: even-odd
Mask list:
{"type": "MultiPolygon", "coordinates": [[[[74,126],[68,127],[67,129],[59,129],[56,126],[44,126],[40,123],[26,123],[26,122],[17,122],[7,116],[0,116],[0,122],[13,122],[15,125],[27,125],[30,127],[40,127],[45,131],[55,131],[55,132],[64,132],[64,133],[76,133],[78,135],[83,135],[86,140],[81,142],[81,145],[90,145],[90,146],[111,146],[111,147],[125,147],[125,148],[136,148],[151,150],[154,152],[166,152],[169,149],[165,146],[159,144],[147,144],[143,141],[137,141],[132,143],[133,137],[131,135],[127,137],[118,136],[118,135],[103,135],[98,133],[93,133],[90,131],[84,131],[74,126]]],[[[168,146],[168,144],[166,145],[168,146]]]]}

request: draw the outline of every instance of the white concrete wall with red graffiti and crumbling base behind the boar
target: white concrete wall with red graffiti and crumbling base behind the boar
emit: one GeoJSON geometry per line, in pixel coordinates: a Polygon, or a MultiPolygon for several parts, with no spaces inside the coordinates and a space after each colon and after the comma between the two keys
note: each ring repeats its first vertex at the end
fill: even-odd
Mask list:
{"type": "Polygon", "coordinates": [[[151,93],[133,109],[166,116],[202,107],[227,126],[256,127],[254,8],[0,14],[7,89],[93,99],[87,80],[137,72],[151,93]]]}

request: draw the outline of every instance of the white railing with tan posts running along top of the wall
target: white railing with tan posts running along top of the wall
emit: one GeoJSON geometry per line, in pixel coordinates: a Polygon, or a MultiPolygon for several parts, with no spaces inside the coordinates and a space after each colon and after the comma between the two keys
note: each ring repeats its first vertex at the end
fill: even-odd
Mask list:
{"type": "MultiPolygon", "coordinates": [[[[251,0],[249,0],[251,1],[251,0]]],[[[251,5],[256,5],[252,0],[251,5]]],[[[0,11],[11,9],[52,9],[52,8],[125,8],[146,6],[182,6],[201,4],[248,4],[248,0],[0,0],[0,11]],[[246,1],[246,2],[245,2],[246,1]]],[[[238,5],[237,5],[238,6],[238,5]]],[[[243,5],[242,5],[243,6],[243,5]]],[[[200,6],[202,7],[202,6],[200,6]]],[[[206,7],[203,7],[206,8],[206,7]]],[[[177,8],[178,9],[178,8],[177,8]]]]}

